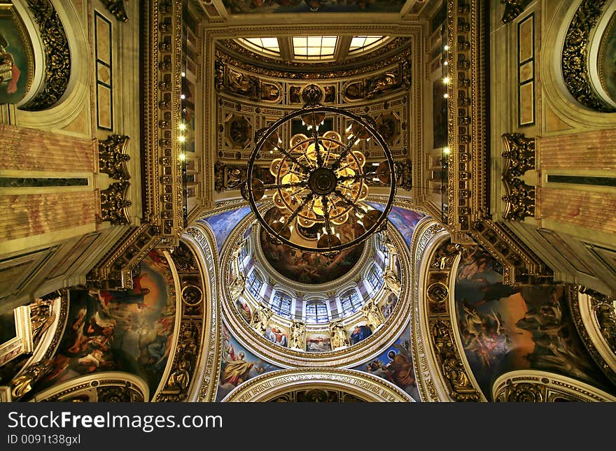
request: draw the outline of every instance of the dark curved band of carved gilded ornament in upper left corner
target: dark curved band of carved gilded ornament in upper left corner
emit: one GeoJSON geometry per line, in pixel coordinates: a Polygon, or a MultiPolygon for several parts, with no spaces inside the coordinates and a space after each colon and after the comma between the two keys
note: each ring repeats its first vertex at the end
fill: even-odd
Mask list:
{"type": "Polygon", "coordinates": [[[59,101],[71,76],[71,52],[66,32],[50,0],[27,0],[45,50],[45,82],[41,92],[21,110],[41,111],[59,101]]]}

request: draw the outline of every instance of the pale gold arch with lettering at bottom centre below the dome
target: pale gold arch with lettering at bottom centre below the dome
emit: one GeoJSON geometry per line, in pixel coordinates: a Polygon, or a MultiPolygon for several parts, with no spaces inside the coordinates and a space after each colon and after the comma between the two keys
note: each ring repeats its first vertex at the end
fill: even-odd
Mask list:
{"type": "Polygon", "coordinates": [[[391,382],[363,371],[296,368],[272,371],[249,379],[225,396],[223,402],[271,401],[288,392],[290,387],[343,390],[368,402],[413,401],[391,382]]]}

